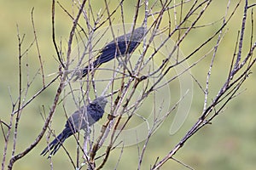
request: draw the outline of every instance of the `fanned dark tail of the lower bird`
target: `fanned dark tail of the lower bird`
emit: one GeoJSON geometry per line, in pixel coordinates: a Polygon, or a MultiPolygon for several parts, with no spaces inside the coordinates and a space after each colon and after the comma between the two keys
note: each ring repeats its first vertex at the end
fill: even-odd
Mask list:
{"type": "Polygon", "coordinates": [[[45,156],[49,152],[49,156],[54,156],[56,151],[60,149],[63,142],[72,135],[70,129],[65,128],[61,134],[57,136],[42,152],[41,156],[45,156]]]}

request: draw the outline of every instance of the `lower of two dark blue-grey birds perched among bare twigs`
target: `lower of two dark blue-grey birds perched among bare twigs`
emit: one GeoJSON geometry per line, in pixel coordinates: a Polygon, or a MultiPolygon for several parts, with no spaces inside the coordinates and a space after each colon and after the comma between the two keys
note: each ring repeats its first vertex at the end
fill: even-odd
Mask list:
{"type": "Polygon", "coordinates": [[[81,129],[86,130],[99,121],[104,113],[108,100],[104,96],[94,99],[89,105],[82,106],[68,117],[64,130],[42,151],[41,156],[49,152],[49,157],[54,156],[64,141],[81,129]]]}

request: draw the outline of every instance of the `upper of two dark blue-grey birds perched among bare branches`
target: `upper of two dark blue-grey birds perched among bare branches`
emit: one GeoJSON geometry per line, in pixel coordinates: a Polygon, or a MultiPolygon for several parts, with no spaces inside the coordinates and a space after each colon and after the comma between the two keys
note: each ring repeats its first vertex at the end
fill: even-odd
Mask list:
{"type": "Polygon", "coordinates": [[[119,57],[124,54],[131,54],[131,52],[137,48],[138,43],[142,41],[144,34],[145,29],[141,26],[133,32],[116,37],[116,41],[113,40],[102,48],[101,54],[96,58],[96,60],[91,65],[85,66],[83,71],[75,78],[75,80],[79,77],[85,77],[93,68],[97,68],[115,57],[119,57]]]}

